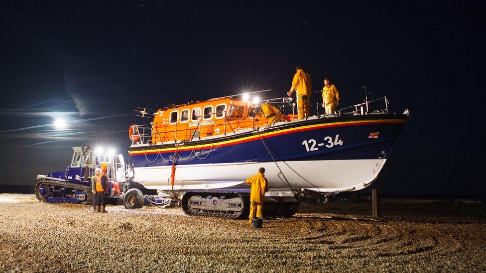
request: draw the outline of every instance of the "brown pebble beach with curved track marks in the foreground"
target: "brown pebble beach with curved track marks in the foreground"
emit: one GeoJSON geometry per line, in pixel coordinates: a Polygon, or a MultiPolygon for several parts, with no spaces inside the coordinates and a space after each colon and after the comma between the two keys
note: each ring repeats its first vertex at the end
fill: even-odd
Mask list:
{"type": "Polygon", "coordinates": [[[38,202],[0,194],[0,272],[486,271],[486,220],[454,207],[302,205],[291,218],[185,215],[180,208],[38,202]]]}

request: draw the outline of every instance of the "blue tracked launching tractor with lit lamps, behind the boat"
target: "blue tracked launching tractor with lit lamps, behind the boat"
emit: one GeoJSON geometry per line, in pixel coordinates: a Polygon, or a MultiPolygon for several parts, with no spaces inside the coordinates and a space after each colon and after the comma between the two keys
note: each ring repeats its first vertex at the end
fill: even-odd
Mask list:
{"type": "Polygon", "coordinates": [[[37,175],[37,198],[48,203],[92,204],[91,177],[97,167],[104,166],[107,168],[109,180],[107,203],[121,204],[129,185],[123,155],[95,152],[90,147],[73,147],[73,150],[71,164],[66,169],[48,175],[37,175]]]}

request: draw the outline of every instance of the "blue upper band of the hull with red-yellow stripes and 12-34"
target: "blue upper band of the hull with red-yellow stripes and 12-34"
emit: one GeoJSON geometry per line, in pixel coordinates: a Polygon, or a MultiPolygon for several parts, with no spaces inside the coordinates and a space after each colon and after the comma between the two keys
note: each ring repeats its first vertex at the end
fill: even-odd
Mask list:
{"type": "MultiPolygon", "coordinates": [[[[310,126],[315,126],[315,128],[302,128],[302,125],[292,124],[294,126],[272,128],[272,131],[260,130],[260,134],[277,161],[376,159],[389,153],[405,121],[406,118],[403,117],[395,118],[392,122],[383,121],[383,119],[354,120],[351,123],[343,121],[341,124],[321,121],[311,123],[310,126]],[[326,124],[332,125],[326,126],[326,124]],[[282,130],[288,131],[278,133],[282,130]],[[372,138],[369,137],[370,133],[376,132],[379,133],[376,138],[374,135],[372,138]],[[342,143],[334,144],[336,136],[342,143]],[[330,137],[333,144],[330,143],[329,138],[325,139],[326,137],[330,137]],[[314,147],[312,147],[314,144],[312,140],[316,141],[314,147]],[[303,144],[304,141],[308,142],[307,145],[303,144]]],[[[204,143],[203,141],[186,143],[178,148],[178,157],[174,157],[175,145],[173,143],[150,148],[144,147],[142,151],[128,150],[134,168],[172,166],[175,158],[177,166],[272,161],[258,134],[254,135],[253,132],[241,134],[228,142],[230,143],[213,139],[212,146],[206,144],[207,148],[193,148],[193,145],[198,146],[204,143]],[[253,137],[251,138],[251,136],[253,137]],[[250,137],[249,140],[244,139],[248,137],[250,137]],[[154,150],[154,148],[158,149],[154,150]]]]}

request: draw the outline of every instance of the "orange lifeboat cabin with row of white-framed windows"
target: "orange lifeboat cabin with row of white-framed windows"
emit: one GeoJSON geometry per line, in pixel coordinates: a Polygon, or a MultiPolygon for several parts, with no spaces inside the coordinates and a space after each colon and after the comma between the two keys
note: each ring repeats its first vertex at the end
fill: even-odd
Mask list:
{"type": "Polygon", "coordinates": [[[254,106],[242,99],[215,98],[159,109],[153,118],[152,143],[192,141],[265,127],[265,117],[253,118],[254,106]]]}

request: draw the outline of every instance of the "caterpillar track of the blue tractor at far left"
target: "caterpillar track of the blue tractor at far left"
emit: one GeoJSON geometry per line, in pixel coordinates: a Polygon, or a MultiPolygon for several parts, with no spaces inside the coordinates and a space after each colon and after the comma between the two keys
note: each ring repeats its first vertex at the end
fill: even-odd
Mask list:
{"type": "Polygon", "coordinates": [[[90,186],[70,182],[41,180],[35,185],[35,196],[48,203],[93,204],[90,186]]]}

